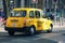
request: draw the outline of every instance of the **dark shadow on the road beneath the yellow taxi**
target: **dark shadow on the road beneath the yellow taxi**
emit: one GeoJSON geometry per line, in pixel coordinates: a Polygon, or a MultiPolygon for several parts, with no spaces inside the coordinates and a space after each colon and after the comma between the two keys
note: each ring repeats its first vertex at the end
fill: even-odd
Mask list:
{"type": "MultiPolygon", "coordinates": [[[[39,34],[39,33],[37,33],[37,34],[39,34]]],[[[32,34],[32,35],[30,35],[30,34],[26,34],[26,33],[15,33],[14,35],[9,35],[9,33],[8,32],[0,32],[0,38],[3,38],[3,37],[5,37],[5,38],[10,38],[10,37],[13,37],[13,38],[15,38],[15,37],[23,37],[23,38],[25,38],[25,37],[35,37],[36,34],[32,34]]]]}

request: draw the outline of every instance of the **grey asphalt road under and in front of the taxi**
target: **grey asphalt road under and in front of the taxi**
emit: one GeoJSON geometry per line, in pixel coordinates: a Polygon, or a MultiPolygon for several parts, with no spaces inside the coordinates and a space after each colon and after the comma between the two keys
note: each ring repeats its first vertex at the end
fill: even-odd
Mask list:
{"type": "Polygon", "coordinates": [[[52,33],[41,32],[35,35],[15,33],[14,37],[10,37],[6,32],[0,32],[0,43],[64,43],[64,28],[55,29],[52,33]]]}

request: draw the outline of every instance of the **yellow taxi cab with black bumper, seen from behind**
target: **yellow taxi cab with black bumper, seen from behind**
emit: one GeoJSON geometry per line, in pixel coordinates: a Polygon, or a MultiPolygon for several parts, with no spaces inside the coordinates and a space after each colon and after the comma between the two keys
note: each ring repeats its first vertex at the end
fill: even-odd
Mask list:
{"type": "Polygon", "coordinates": [[[43,18],[43,11],[32,8],[13,9],[5,20],[5,30],[10,35],[16,31],[35,34],[36,31],[52,32],[51,19],[43,18]]]}

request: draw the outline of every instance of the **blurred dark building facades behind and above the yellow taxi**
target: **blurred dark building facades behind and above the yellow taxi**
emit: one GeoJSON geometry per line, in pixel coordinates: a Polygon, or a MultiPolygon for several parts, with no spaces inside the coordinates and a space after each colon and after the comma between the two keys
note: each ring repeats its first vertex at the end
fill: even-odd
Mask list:
{"type": "Polygon", "coordinates": [[[0,9],[4,9],[5,14],[14,8],[24,6],[42,9],[46,15],[65,17],[65,0],[0,0],[0,9]]]}

